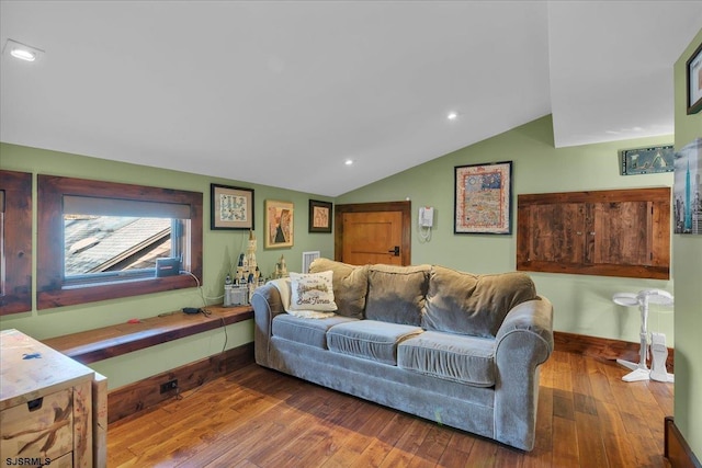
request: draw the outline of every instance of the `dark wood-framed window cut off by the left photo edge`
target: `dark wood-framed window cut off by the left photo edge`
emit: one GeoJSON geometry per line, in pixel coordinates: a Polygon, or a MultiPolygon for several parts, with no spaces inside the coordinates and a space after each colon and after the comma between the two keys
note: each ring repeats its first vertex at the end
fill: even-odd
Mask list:
{"type": "Polygon", "coordinates": [[[32,174],[0,171],[0,316],[32,310],[32,174]]]}

